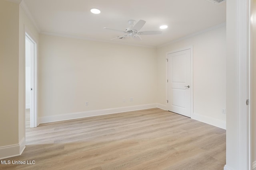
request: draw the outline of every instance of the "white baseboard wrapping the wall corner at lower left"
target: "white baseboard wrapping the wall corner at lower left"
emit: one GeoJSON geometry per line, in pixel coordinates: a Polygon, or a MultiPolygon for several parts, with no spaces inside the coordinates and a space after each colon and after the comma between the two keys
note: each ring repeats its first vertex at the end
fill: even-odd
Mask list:
{"type": "Polygon", "coordinates": [[[25,147],[25,138],[23,138],[18,144],[0,147],[0,160],[20,156],[25,147]]]}

